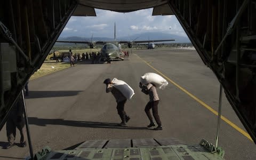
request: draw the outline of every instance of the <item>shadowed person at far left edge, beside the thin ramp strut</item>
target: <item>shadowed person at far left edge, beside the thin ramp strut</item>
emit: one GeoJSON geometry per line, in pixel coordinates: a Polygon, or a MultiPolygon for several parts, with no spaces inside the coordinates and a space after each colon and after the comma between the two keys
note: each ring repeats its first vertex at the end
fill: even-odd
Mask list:
{"type": "Polygon", "coordinates": [[[8,144],[4,146],[4,149],[9,149],[15,145],[14,140],[16,136],[16,127],[20,131],[20,143],[19,147],[26,147],[27,143],[24,140],[24,130],[25,130],[25,119],[23,117],[24,113],[24,103],[22,94],[17,99],[17,102],[14,103],[14,106],[11,110],[11,113],[6,121],[6,133],[8,144]]]}

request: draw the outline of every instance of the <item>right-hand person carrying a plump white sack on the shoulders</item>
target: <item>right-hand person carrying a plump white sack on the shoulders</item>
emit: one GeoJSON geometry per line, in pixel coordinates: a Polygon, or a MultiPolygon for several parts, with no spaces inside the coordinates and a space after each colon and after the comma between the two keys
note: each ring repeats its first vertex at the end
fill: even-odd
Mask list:
{"type": "Polygon", "coordinates": [[[147,85],[142,85],[140,82],[139,87],[142,89],[141,91],[145,94],[149,94],[149,102],[147,103],[145,107],[145,112],[148,116],[148,119],[150,121],[150,124],[148,127],[153,127],[156,126],[155,123],[153,122],[153,117],[150,114],[150,109],[152,108],[153,116],[155,118],[155,121],[157,123],[157,127],[154,128],[154,130],[163,130],[163,126],[160,120],[160,117],[158,115],[158,103],[159,103],[159,98],[156,92],[156,87],[154,84],[149,83],[147,85]]]}

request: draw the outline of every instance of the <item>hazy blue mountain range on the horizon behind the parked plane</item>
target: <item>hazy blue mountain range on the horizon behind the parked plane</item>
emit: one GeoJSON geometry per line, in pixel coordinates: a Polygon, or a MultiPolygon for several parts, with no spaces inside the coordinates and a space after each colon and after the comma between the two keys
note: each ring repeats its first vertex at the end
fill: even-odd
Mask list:
{"type": "MultiPolygon", "coordinates": [[[[142,33],[142,34],[134,34],[131,36],[125,37],[116,37],[116,41],[143,41],[143,40],[159,40],[159,39],[175,39],[175,41],[165,42],[165,43],[190,43],[189,38],[178,36],[174,34],[165,34],[165,33],[142,33]]],[[[58,40],[62,41],[114,41],[113,38],[108,37],[59,37],[58,40]]]]}

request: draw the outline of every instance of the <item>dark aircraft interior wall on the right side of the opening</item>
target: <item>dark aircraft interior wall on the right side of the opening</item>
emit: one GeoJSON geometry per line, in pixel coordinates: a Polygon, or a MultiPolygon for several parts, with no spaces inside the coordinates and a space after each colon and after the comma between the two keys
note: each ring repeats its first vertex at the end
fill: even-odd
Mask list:
{"type": "Polygon", "coordinates": [[[256,142],[256,1],[178,0],[169,6],[256,142]]]}

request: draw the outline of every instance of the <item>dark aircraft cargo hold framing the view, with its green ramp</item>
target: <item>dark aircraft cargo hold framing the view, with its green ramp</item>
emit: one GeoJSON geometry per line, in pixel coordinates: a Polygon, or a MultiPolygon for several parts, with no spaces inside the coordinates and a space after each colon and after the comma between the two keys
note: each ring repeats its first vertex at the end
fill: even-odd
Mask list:
{"type": "MultiPolygon", "coordinates": [[[[96,16],[94,8],[125,13],[150,7],[154,7],[153,15],[174,14],[177,17],[205,65],[219,79],[246,131],[256,142],[256,7],[253,0],[0,1],[0,128],[29,77],[41,67],[71,15],[96,16]]],[[[28,129],[28,121],[26,125],[28,129]]],[[[30,134],[27,133],[30,155],[34,157],[30,134]]],[[[123,144],[120,140],[86,141],[74,147],[75,150],[44,148],[35,158],[223,159],[221,150],[206,141],[200,145],[184,145],[172,139],[140,139],[130,140],[125,143],[127,146],[123,144]],[[109,142],[112,146],[108,145],[109,142]]]]}

